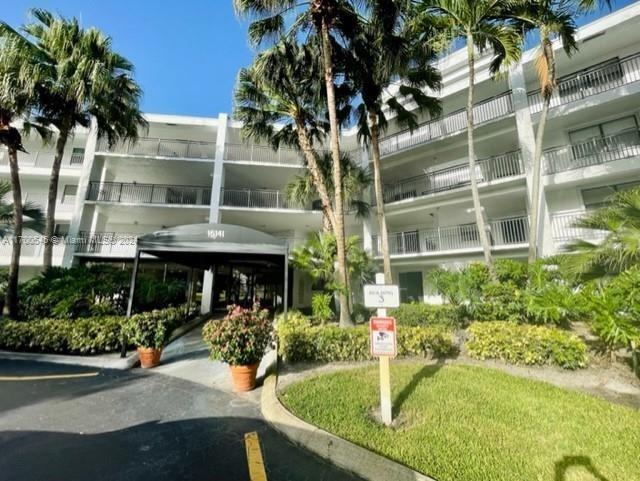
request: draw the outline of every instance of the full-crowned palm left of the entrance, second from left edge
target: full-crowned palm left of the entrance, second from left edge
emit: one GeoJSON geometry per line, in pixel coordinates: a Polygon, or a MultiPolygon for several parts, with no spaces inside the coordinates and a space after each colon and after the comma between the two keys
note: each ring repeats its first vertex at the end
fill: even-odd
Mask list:
{"type": "MultiPolygon", "coordinates": [[[[20,34],[0,23],[0,35],[11,38],[22,54],[16,60],[30,68],[36,84],[37,120],[57,130],[55,157],[49,179],[45,238],[55,228],[60,165],[76,126],[96,119],[98,138],[110,145],[135,140],[146,126],[139,109],[142,91],[133,80],[133,65],[112,50],[111,39],[95,28],[83,29],[76,18],[66,19],[31,10],[35,21],[20,34]]],[[[43,267],[51,267],[53,245],[45,243],[43,267]]]]}

